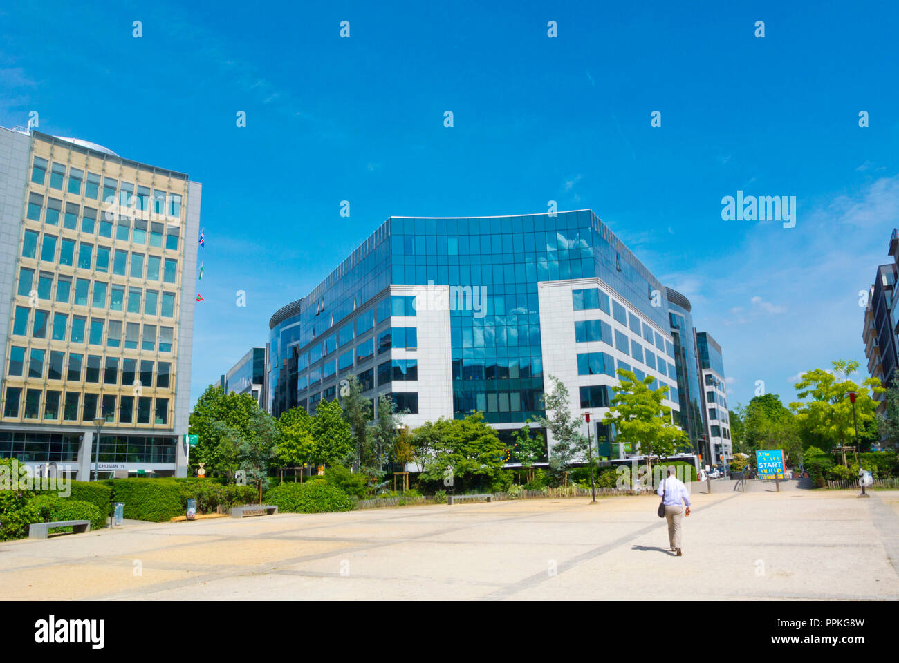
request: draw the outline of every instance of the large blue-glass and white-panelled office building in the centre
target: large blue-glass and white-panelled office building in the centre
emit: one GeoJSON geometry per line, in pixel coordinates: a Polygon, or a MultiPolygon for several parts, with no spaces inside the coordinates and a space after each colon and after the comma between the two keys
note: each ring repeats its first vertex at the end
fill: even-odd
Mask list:
{"type": "Polygon", "coordinates": [[[409,425],[482,411],[507,435],[543,413],[548,376],[601,418],[616,367],[680,407],[665,288],[591,210],[390,217],[269,327],[275,415],[352,374],[409,425]]]}

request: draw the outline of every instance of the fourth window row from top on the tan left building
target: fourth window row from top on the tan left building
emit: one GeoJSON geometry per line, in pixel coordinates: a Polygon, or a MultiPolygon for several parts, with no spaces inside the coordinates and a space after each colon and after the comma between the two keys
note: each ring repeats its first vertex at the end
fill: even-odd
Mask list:
{"type": "MultiPolygon", "coordinates": [[[[37,283],[34,282],[34,270],[27,267],[19,268],[19,288],[16,294],[20,296],[36,296],[38,301],[51,301],[53,296],[53,277],[47,271],[41,271],[37,283]]],[[[107,283],[106,281],[93,281],[93,296],[91,292],[91,280],[89,278],[76,278],[73,292],[72,277],[58,274],[56,277],[55,301],[59,304],[73,304],[77,306],[92,306],[110,311],[126,310],[125,287],[107,283]],[[109,295],[107,297],[107,294],[109,295]]],[[[160,292],[158,290],[143,290],[140,287],[128,288],[129,313],[145,315],[159,315],[164,318],[174,317],[174,292],[160,292]],[[141,306],[143,304],[143,306],[141,306]]]]}

